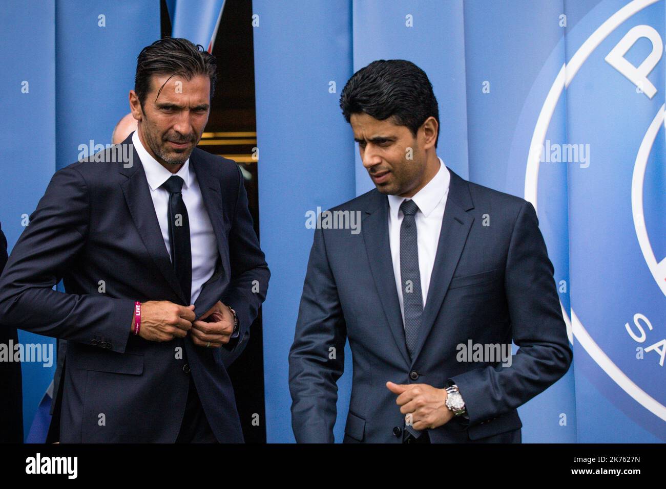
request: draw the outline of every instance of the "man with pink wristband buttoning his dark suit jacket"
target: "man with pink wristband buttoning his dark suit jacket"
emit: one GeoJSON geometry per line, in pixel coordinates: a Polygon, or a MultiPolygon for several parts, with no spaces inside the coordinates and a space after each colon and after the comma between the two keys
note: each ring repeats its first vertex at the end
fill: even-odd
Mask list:
{"type": "Polygon", "coordinates": [[[61,442],[243,441],[226,367],[270,273],[240,169],[196,148],[215,77],[186,39],[143,49],[137,130],[56,172],[9,257],[3,325],[67,340],[61,442]]]}

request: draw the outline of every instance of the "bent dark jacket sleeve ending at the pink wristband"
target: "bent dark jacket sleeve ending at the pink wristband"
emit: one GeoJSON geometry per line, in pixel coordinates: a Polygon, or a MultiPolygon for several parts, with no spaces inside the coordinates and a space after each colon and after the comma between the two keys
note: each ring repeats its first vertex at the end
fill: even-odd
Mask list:
{"type": "Polygon", "coordinates": [[[0,323],[125,352],[134,301],[53,290],[85,246],[89,194],[75,168],[59,170],[30,216],[0,277],[0,323]],[[97,341],[93,341],[97,340],[97,341]]]}

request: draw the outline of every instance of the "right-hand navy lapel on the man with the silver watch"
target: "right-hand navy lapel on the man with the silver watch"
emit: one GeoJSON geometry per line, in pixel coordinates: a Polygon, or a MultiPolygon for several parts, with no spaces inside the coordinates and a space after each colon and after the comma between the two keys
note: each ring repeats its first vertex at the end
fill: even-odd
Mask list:
{"type": "MultiPolygon", "coordinates": [[[[458,266],[458,260],[467,242],[474,217],[467,213],[474,209],[468,182],[449,170],[451,180],[446,198],[442,230],[437,245],[435,263],[430,277],[426,309],[424,309],[418,331],[418,341],[414,350],[414,361],[423,348],[434,321],[442,307],[442,301],[448,291],[451,279],[458,266]]],[[[412,362],[413,363],[413,362],[412,362]]]]}

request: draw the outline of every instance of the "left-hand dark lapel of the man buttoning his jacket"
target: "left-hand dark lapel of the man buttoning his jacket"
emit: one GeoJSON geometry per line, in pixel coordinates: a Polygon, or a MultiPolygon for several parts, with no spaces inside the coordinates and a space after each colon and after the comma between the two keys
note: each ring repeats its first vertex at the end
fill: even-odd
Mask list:
{"type": "MultiPolygon", "coordinates": [[[[130,134],[130,136],[128,136],[128,138],[121,144],[131,144],[131,138],[132,136],[130,134]]],[[[176,295],[178,295],[180,300],[183,301],[184,304],[189,304],[190,299],[185,299],[185,296],[180,289],[176,272],[168,257],[168,251],[166,251],[166,245],[162,237],[162,230],[157,220],[157,214],[155,214],[155,205],[153,204],[153,198],[151,198],[151,189],[148,186],[148,180],[146,179],[146,174],[143,170],[143,164],[141,164],[139,154],[134,147],[133,152],[133,165],[130,168],[125,168],[124,165],[121,165],[120,169],[121,174],[127,176],[127,180],[121,183],[127,207],[129,208],[135,226],[137,226],[139,236],[141,236],[141,240],[146,246],[146,249],[148,249],[148,253],[151,255],[151,258],[153,258],[155,265],[157,265],[157,268],[165,277],[166,282],[170,285],[176,295]]]]}

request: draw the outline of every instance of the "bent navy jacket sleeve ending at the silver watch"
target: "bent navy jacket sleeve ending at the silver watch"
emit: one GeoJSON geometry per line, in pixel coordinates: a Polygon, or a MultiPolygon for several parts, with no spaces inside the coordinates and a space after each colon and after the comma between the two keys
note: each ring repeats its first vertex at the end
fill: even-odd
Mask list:
{"type": "Polygon", "coordinates": [[[555,383],[571,365],[553,265],[529,202],[523,204],[513,226],[504,286],[513,343],[519,347],[511,366],[474,369],[447,382],[458,385],[470,426],[523,405],[555,383]]]}

